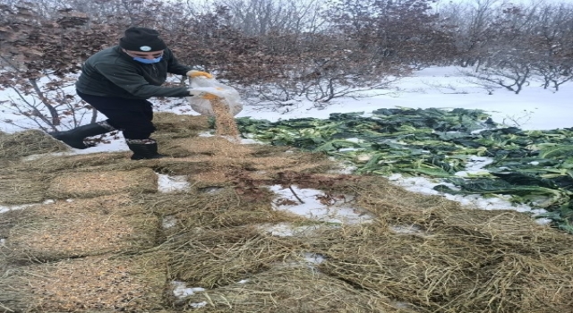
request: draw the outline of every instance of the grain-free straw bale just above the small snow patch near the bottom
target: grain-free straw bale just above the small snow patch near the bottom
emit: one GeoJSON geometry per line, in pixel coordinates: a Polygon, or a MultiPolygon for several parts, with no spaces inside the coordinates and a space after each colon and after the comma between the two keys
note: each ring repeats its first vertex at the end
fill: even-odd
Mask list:
{"type": "Polygon", "coordinates": [[[263,235],[254,226],[240,226],[179,233],[161,248],[169,255],[170,278],[212,288],[269,269],[300,245],[294,239],[263,235]]]}

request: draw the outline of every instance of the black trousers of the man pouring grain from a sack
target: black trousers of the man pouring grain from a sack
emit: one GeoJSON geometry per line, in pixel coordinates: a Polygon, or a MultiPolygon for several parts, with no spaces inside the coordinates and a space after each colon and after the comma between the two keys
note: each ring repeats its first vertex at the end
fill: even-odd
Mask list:
{"type": "Polygon", "coordinates": [[[99,97],[76,90],[78,96],[106,115],[107,123],[124,133],[126,140],[146,140],[155,131],[153,107],[148,100],[124,97],[99,97]]]}

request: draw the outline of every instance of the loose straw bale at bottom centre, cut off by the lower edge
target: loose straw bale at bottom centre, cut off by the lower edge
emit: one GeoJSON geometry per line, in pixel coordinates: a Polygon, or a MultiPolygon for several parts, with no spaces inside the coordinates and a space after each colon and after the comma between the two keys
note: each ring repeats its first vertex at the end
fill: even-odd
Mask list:
{"type": "Polygon", "coordinates": [[[196,292],[184,302],[206,303],[202,312],[414,312],[302,264],[273,266],[246,282],[196,292]]]}

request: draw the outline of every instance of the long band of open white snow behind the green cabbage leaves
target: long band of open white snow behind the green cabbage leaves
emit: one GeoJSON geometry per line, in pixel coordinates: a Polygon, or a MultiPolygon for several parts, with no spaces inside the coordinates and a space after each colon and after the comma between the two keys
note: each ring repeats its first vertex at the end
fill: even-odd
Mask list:
{"type": "Polygon", "coordinates": [[[394,90],[372,90],[364,92],[380,94],[372,97],[339,98],[326,107],[312,107],[311,103],[301,102],[296,107],[286,106],[274,111],[261,111],[261,107],[246,107],[241,116],[266,119],[271,122],[292,118],[328,118],[331,113],[364,112],[392,107],[412,108],[466,108],[481,109],[492,114],[493,121],[508,123],[526,130],[550,130],[573,126],[570,121],[573,110],[569,99],[573,97],[573,83],[559,92],[532,86],[520,94],[504,89],[496,89],[492,95],[483,87],[468,81],[459,68],[428,68],[416,72],[414,77],[399,80],[394,90]],[[569,88],[568,88],[569,86],[569,88]],[[453,89],[453,90],[452,90],[453,89]]]}

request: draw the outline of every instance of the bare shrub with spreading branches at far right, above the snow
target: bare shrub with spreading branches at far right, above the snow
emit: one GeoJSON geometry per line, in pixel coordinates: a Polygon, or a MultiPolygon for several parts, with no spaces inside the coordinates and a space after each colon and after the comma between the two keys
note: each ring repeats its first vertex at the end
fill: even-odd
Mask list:
{"type": "Polygon", "coordinates": [[[519,93],[534,76],[559,89],[571,80],[570,5],[510,4],[477,0],[475,6],[446,5],[440,12],[457,25],[461,65],[476,78],[519,93]]]}

